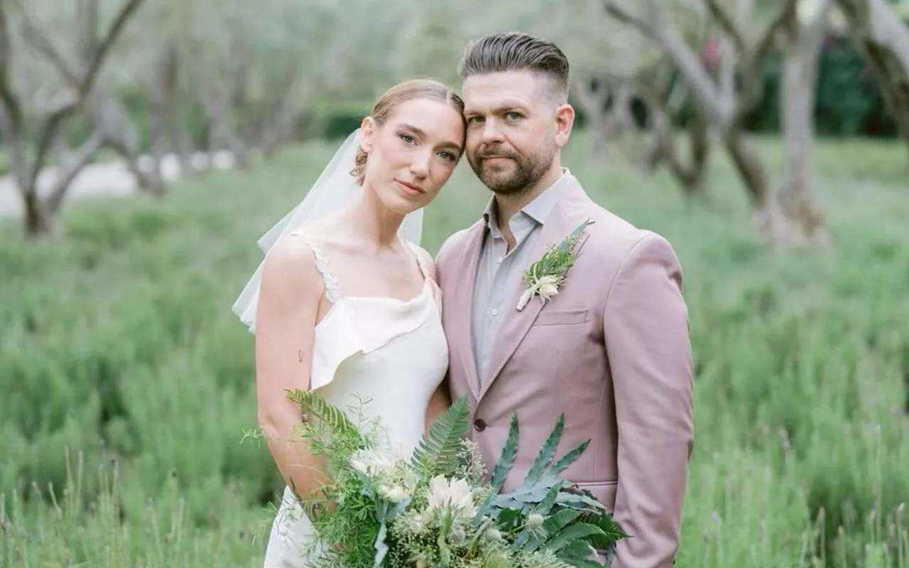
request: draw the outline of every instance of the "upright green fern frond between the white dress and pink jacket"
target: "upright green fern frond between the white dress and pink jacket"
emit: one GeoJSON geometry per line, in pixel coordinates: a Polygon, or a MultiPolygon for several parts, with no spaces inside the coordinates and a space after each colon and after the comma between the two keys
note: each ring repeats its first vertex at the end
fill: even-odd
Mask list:
{"type": "Polygon", "coordinates": [[[454,471],[469,418],[470,408],[464,394],[435,419],[417,444],[411,458],[411,465],[417,473],[429,478],[454,471]]]}

